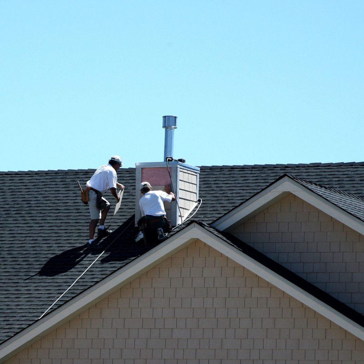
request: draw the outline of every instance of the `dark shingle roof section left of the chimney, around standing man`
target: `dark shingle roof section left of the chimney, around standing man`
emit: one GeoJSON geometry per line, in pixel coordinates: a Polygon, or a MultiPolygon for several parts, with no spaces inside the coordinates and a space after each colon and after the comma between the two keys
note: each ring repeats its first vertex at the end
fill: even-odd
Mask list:
{"type": "MultiPolygon", "coordinates": [[[[76,183],[84,186],[93,173],[0,173],[1,341],[40,317],[97,257],[86,249],[90,215],[76,183]]],[[[126,186],[123,209],[115,216],[109,213],[106,222],[116,231],[106,244],[130,223],[134,227],[135,170],[123,169],[119,181],[126,186]]],[[[111,194],[106,198],[115,201],[111,194]]],[[[124,233],[54,308],[142,254],[144,246],[134,250],[130,245],[132,234],[130,229],[124,233]]]]}

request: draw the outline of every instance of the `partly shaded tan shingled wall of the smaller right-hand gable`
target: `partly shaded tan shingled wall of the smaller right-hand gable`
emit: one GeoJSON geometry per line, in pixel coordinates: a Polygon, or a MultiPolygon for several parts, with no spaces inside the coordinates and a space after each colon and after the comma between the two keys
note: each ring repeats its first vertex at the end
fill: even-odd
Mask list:
{"type": "Polygon", "coordinates": [[[293,194],[230,233],[364,313],[364,236],[293,194]]]}

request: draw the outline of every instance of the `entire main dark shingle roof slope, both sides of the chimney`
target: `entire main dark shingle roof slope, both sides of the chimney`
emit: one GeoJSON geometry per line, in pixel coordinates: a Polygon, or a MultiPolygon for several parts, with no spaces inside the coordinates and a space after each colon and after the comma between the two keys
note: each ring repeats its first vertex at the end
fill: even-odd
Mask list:
{"type": "MultiPolygon", "coordinates": [[[[39,318],[97,257],[86,249],[90,217],[76,183],[84,186],[93,173],[0,172],[0,342],[39,318]]],[[[364,197],[364,163],[202,166],[202,205],[193,218],[211,223],[283,174],[364,197]]],[[[119,170],[118,181],[126,189],[115,216],[115,200],[105,196],[111,202],[106,225],[115,231],[104,244],[112,244],[52,309],[151,248],[134,242],[135,169],[119,170]]]]}

